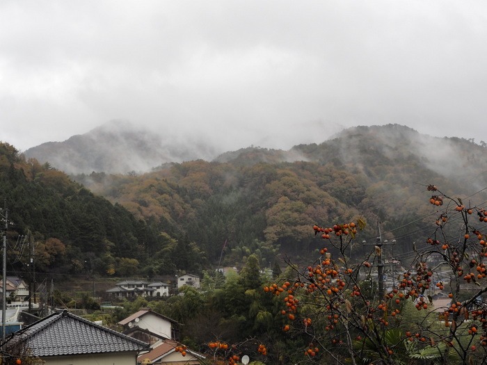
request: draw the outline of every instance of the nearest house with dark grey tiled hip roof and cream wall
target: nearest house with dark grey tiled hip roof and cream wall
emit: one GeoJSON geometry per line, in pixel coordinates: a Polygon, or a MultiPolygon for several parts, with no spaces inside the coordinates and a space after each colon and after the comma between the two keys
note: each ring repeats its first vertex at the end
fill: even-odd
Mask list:
{"type": "Polygon", "coordinates": [[[49,365],[136,365],[149,345],[63,310],[11,334],[2,349],[15,355],[29,350],[49,365]]]}

